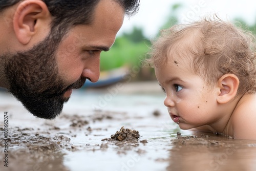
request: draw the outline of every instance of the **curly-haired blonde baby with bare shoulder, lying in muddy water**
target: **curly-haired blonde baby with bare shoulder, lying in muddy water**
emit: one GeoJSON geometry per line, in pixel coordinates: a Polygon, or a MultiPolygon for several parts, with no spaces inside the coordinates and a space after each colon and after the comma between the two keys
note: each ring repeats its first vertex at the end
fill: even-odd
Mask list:
{"type": "Polygon", "coordinates": [[[162,31],[146,62],[180,129],[256,139],[254,38],[217,17],[162,31]]]}

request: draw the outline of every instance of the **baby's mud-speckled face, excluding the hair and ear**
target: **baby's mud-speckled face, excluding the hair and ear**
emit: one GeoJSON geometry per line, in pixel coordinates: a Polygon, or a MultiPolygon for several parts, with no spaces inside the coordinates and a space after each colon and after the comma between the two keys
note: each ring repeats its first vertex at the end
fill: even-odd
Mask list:
{"type": "Polygon", "coordinates": [[[158,82],[166,93],[164,105],[183,130],[213,123],[220,117],[215,112],[218,91],[189,69],[188,62],[168,59],[166,65],[155,67],[158,82]]]}

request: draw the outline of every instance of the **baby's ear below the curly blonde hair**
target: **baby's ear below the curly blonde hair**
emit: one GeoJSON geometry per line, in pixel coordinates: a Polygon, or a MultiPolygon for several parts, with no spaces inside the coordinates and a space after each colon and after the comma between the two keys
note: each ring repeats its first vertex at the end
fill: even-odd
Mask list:
{"type": "Polygon", "coordinates": [[[232,100],[238,91],[239,79],[234,74],[225,74],[218,81],[218,88],[220,89],[217,101],[221,104],[232,100]]]}

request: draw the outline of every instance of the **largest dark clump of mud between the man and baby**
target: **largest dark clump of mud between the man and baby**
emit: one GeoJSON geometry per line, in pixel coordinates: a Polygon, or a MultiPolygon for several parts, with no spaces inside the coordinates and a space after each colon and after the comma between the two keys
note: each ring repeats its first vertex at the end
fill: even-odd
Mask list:
{"type": "Polygon", "coordinates": [[[120,131],[117,131],[116,134],[111,135],[112,140],[117,141],[137,141],[140,138],[140,134],[136,130],[124,129],[122,126],[120,131]]]}

